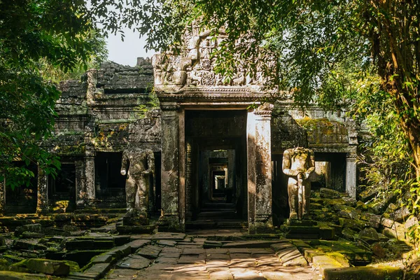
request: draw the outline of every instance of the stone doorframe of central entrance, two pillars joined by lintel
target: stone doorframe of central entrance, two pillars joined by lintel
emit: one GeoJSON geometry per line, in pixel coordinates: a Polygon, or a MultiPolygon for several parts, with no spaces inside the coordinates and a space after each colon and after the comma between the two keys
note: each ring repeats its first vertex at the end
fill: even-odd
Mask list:
{"type": "MultiPolygon", "coordinates": [[[[162,109],[162,212],[160,230],[186,230],[186,110],[245,110],[251,102],[232,104],[183,104],[160,100],[162,109]]],[[[258,104],[257,104],[258,105],[258,104]]],[[[248,189],[248,231],[272,230],[272,160],[270,120],[272,105],[248,109],[246,155],[248,189]]]]}

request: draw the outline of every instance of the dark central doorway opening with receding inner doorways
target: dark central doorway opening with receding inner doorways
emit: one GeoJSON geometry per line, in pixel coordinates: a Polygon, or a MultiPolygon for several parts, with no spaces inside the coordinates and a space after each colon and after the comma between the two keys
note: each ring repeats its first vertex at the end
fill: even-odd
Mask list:
{"type": "Polygon", "coordinates": [[[187,221],[246,220],[246,111],[186,111],[186,151],[187,221]]]}

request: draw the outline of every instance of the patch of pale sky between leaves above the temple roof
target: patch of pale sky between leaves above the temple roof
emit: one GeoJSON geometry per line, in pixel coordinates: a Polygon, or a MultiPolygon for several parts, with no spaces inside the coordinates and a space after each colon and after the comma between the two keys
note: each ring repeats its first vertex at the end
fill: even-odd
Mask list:
{"type": "Polygon", "coordinates": [[[133,32],[132,29],[123,29],[125,33],[124,42],[121,41],[120,34],[114,36],[109,35],[106,39],[108,46],[108,59],[118,64],[135,66],[137,57],[152,57],[155,51],[144,49],[145,40],[139,38],[138,32],[133,32]]]}

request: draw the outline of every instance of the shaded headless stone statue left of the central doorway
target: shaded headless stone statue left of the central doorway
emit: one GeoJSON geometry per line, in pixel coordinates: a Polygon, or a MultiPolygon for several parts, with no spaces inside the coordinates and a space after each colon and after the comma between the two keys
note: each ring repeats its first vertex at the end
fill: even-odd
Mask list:
{"type": "MultiPolygon", "coordinates": [[[[121,174],[127,174],[125,181],[127,202],[125,218],[127,219],[125,221],[139,219],[139,223],[147,223],[149,182],[154,170],[155,157],[152,150],[132,148],[124,151],[121,174]],[[129,167],[128,171],[127,167],[129,167]]],[[[133,221],[130,223],[134,223],[133,221]]]]}

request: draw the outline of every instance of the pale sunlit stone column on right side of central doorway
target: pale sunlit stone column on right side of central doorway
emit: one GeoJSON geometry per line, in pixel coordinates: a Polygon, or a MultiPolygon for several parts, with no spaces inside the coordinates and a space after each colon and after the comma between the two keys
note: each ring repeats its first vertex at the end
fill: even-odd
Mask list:
{"type": "MultiPolygon", "coordinates": [[[[260,106],[255,119],[255,232],[272,229],[272,160],[271,160],[272,105],[260,106]]],[[[253,230],[250,228],[250,232],[253,230]]]]}

